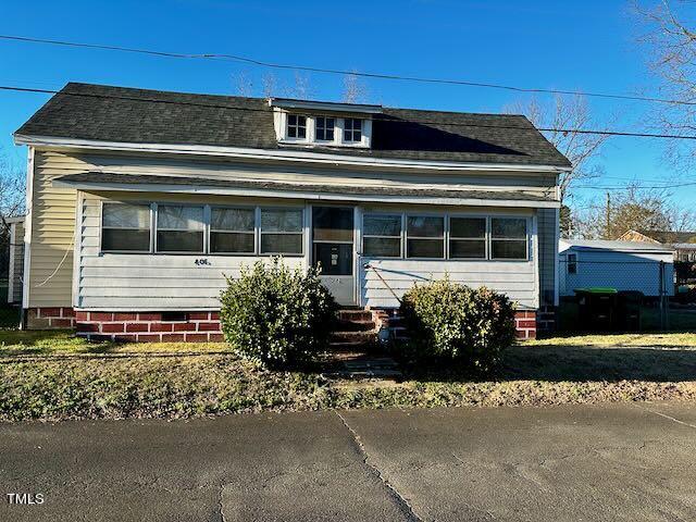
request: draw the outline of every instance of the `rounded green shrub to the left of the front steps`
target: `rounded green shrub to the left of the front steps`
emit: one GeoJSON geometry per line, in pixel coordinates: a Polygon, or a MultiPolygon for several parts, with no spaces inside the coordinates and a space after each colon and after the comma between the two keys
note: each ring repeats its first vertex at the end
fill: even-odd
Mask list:
{"type": "Polygon", "coordinates": [[[313,360],[328,346],[336,303],[319,271],[290,270],[278,258],[227,278],[220,321],[241,357],[271,368],[313,360]]]}

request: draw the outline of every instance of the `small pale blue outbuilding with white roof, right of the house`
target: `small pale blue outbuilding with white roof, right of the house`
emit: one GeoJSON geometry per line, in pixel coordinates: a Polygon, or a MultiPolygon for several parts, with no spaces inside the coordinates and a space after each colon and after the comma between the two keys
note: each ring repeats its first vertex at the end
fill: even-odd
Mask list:
{"type": "Polygon", "coordinates": [[[576,288],[606,287],[637,290],[648,297],[673,296],[672,261],[672,249],[656,244],[561,239],[560,295],[574,296],[576,288]]]}

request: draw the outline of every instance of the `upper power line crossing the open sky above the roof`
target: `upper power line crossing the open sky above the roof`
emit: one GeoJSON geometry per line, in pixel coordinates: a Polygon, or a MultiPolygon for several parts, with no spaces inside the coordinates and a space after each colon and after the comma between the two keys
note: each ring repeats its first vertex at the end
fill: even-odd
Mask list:
{"type": "Polygon", "coordinates": [[[249,63],[252,65],[268,67],[268,69],[293,70],[293,71],[303,71],[308,73],[322,73],[322,74],[353,75],[353,76],[361,76],[365,78],[375,78],[375,79],[417,82],[417,83],[423,83],[423,84],[457,85],[457,86],[464,86],[464,87],[478,87],[478,88],[509,90],[514,92],[526,92],[526,94],[586,96],[592,98],[606,98],[606,99],[616,99],[616,100],[647,101],[652,103],[668,103],[668,104],[679,104],[679,105],[696,105],[696,102],[693,102],[693,101],[671,100],[671,99],[657,98],[657,97],[650,97],[650,96],[631,96],[631,95],[619,95],[619,94],[610,94],[610,92],[594,92],[594,91],[585,91],[585,90],[519,87],[519,86],[494,84],[494,83],[487,83],[487,82],[432,78],[432,77],[425,77],[425,76],[402,76],[402,75],[386,74],[386,73],[360,73],[356,71],[345,71],[339,69],[324,69],[324,67],[313,67],[308,65],[294,65],[294,64],[286,64],[286,63],[266,62],[263,60],[257,60],[253,58],[243,57],[239,54],[166,52],[166,51],[154,51],[150,49],[139,49],[139,48],[132,48],[132,47],[83,44],[83,42],[76,42],[76,41],[51,40],[46,38],[34,38],[34,37],[14,36],[14,35],[0,35],[0,39],[32,42],[32,44],[46,44],[46,45],[63,46],[63,47],[75,47],[75,48],[84,48],[84,49],[99,49],[99,50],[108,50],[108,51],[130,52],[130,53],[148,54],[148,55],[160,57],[160,58],[235,61],[235,62],[249,63]]]}

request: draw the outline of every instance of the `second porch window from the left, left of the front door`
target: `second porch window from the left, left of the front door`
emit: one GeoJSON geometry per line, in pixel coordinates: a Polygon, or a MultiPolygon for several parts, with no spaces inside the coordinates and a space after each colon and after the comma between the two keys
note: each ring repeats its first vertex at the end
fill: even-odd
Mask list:
{"type": "Polygon", "coordinates": [[[203,252],[203,207],[160,204],[157,209],[158,252],[203,252]]]}

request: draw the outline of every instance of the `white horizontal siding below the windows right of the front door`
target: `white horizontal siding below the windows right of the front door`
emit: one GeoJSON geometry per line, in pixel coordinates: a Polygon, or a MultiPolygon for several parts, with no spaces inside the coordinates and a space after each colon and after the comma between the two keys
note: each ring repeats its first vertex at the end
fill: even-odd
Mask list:
{"type": "Polygon", "coordinates": [[[486,286],[507,295],[521,308],[538,308],[535,265],[532,261],[425,261],[363,258],[360,269],[362,303],[371,308],[398,307],[389,288],[400,298],[417,283],[442,279],[474,288],[486,286]],[[364,263],[377,269],[362,268],[364,263]],[[385,284],[386,283],[386,284],[385,284]],[[388,286],[387,286],[388,285],[388,286]]]}

